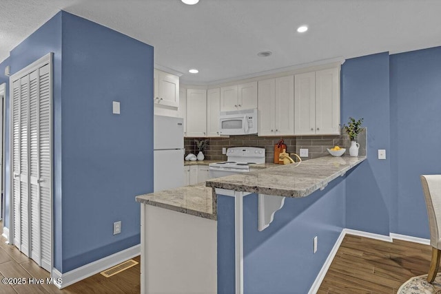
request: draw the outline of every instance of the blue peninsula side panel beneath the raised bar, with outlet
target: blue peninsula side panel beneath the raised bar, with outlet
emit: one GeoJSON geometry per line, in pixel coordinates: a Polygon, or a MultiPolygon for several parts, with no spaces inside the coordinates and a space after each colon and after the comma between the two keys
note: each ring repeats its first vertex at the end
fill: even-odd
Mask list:
{"type": "MultiPolygon", "coordinates": [[[[244,292],[307,293],[343,227],[344,178],[306,198],[286,198],[261,232],[258,197],[245,196],[244,292]]],[[[234,273],[234,198],[218,196],[218,293],[234,293],[234,273]]]]}

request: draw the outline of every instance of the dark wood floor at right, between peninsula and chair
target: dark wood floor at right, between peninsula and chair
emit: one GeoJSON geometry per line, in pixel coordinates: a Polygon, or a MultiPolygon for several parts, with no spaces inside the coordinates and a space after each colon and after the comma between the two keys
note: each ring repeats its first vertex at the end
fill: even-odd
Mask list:
{"type": "Polygon", "coordinates": [[[346,235],[318,294],[396,294],[410,277],[429,272],[431,246],[346,235]]]}

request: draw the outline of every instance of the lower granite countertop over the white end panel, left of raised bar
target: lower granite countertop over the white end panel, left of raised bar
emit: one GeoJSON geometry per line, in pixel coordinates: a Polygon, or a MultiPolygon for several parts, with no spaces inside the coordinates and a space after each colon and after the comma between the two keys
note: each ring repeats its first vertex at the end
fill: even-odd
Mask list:
{"type": "Polygon", "coordinates": [[[205,183],[136,196],[136,202],[210,220],[217,219],[216,199],[214,189],[205,183]]]}

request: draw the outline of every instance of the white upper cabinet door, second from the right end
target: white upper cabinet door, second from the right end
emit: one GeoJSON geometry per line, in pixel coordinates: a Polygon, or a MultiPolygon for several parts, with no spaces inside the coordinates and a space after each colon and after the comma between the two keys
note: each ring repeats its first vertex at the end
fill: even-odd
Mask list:
{"type": "Polygon", "coordinates": [[[316,134],[316,72],[296,74],[294,83],[295,134],[316,134]]]}

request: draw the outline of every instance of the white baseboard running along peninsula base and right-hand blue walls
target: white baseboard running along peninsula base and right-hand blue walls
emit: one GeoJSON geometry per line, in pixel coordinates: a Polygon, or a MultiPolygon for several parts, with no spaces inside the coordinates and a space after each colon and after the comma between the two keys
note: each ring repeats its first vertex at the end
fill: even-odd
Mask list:
{"type": "Polygon", "coordinates": [[[397,239],[397,240],[404,240],[404,241],[414,242],[414,243],[419,243],[419,244],[424,244],[424,245],[430,245],[429,239],[417,238],[417,237],[412,237],[409,235],[400,235],[400,234],[396,234],[396,233],[389,233],[389,236],[387,236],[387,235],[380,235],[380,234],[376,234],[376,233],[368,233],[365,231],[357,231],[357,230],[353,230],[353,229],[343,229],[342,232],[340,233],[340,236],[338,236],[336,244],[334,244],[334,247],[332,247],[331,252],[329,253],[325,263],[323,264],[322,269],[320,269],[320,272],[318,273],[316,280],[314,281],[314,283],[312,283],[311,288],[309,288],[308,294],[317,293],[318,288],[320,288],[320,285],[322,284],[323,279],[325,278],[325,275],[329,269],[329,266],[331,266],[332,260],[334,260],[334,257],[336,256],[338,248],[340,247],[340,244],[342,244],[342,241],[345,238],[346,234],[359,235],[360,237],[366,237],[366,238],[371,238],[371,239],[376,239],[376,240],[381,240],[381,241],[386,241],[386,242],[393,242],[393,239],[397,239]]]}

